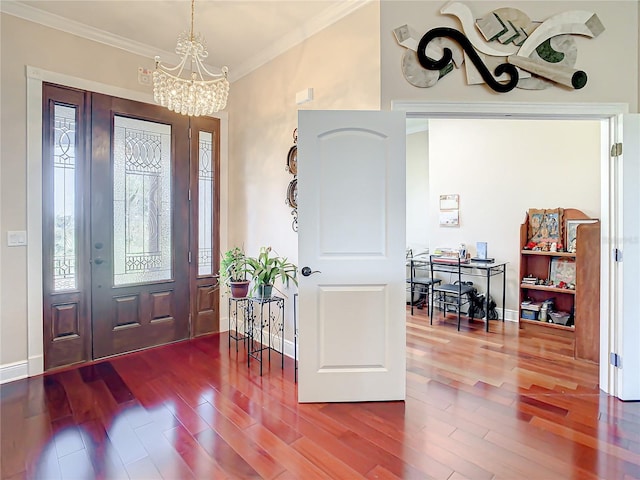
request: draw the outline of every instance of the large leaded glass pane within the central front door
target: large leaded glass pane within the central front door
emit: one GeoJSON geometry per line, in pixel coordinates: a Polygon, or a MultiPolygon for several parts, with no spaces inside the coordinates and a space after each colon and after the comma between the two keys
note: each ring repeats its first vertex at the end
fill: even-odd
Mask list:
{"type": "Polygon", "coordinates": [[[172,278],[171,126],[115,116],[113,283],[172,278]]]}

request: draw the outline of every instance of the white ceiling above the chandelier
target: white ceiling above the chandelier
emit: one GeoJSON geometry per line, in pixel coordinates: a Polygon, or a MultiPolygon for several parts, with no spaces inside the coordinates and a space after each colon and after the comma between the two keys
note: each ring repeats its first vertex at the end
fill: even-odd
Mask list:
{"type": "MultiPolygon", "coordinates": [[[[370,0],[196,0],[195,32],[207,44],[208,66],[246,75],[370,0]]],[[[190,0],[2,0],[0,10],[175,63],[176,39],[191,24],[190,0]]]]}

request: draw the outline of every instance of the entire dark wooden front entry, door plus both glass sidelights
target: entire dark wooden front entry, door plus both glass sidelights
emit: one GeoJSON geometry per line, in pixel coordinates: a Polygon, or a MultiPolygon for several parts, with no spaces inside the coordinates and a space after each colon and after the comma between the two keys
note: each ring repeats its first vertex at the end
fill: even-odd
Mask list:
{"type": "MultiPolygon", "coordinates": [[[[198,278],[217,316],[219,255],[217,203],[206,245],[198,237],[189,117],[51,85],[43,98],[45,368],[188,338],[198,278]]],[[[217,120],[202,122],[217,142],[217,120]]],[[[201,324],[200,334],[217,329],[201,324]]]]}

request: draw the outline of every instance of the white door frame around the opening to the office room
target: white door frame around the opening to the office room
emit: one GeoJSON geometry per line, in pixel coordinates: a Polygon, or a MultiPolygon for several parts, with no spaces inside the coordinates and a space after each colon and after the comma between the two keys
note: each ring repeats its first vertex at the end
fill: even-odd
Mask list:
{"type": "MultiPolygon", "coordinates": [[[[600,121],[600,216],[602,239],[620,238],[622,205],[621,192],[614,178],[610,161],[610,145],[617,141],[619,121],[629,113],[626,103],[496,103],[496,102],[420,102],[392,101],[392,110],[404,111],[407,118],[462,118],[462,119],[538,119],[538,120],[599,120],[600,121]],[[615,198],[614,198],[615,196],[615,198]]],[[[609,362],[609,352],[617,351],[617,335],[622,319],[616,299],[622,292],[622,278],[615,268],[610,252],[615,244],[600,245],[600,361],[599,387],[615,395],[616,368],[609,362]]],[[[620,247],[621,248],[621,247],[620,247]]]]}

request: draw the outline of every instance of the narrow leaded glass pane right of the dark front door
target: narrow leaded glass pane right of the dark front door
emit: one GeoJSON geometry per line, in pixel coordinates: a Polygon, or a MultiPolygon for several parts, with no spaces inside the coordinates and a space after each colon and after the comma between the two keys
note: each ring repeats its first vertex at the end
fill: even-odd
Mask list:
{"type": "Polygon", "coordinates": [[[198,275],[213,274],[213,135],[198,137],[198,275]]]}

